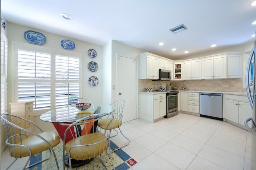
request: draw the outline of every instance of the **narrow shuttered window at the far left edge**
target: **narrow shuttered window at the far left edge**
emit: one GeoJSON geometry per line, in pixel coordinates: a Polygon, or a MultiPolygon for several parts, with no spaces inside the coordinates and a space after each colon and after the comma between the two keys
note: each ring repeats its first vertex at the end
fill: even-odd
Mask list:
{"type": "Polygon", "coordinates": [[[7,111],[7,38],[1,35],[1,113],[7,111]]]}

